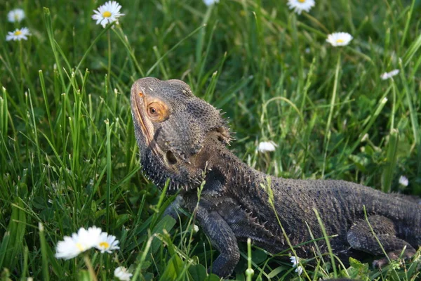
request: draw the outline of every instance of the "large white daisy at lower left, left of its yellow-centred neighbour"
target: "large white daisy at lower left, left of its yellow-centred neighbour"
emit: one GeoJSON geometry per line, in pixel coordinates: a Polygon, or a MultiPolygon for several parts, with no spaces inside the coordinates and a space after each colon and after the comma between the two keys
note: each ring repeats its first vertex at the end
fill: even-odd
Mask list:
{"type": "Polygon", "coordinates": [[[98,244],[101,228],[93,226],[92,228],[80,228],[72,237],[65,236],[64,241],[57,243],[55,247],[55,257],[57,259],[72,259],[83,251],[91,249],[98,244]]]}

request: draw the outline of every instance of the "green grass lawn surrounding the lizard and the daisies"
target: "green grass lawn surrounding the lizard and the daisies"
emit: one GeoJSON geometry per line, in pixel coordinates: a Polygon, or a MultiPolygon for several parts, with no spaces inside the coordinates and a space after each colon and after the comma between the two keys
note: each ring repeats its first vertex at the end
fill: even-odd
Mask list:
{"type": "MultiPolygon", "coordinates": [[[[421,195],[421,1],[320,0],[302,15],[286,1],[120,1],[126,15],[108,30],[91,19],[100,4],[0,4],[1,280],[110,280],[119,265],[133,280],[204,280],[218,252],[192,233],[193,218],[162,218],[173,198],[140,172],[129,93],[147,75],[182,79],[227,112],[231,149],[256,169],[421,195]],[[12,8],[27,18],[7,22],[12,8]],[[29,40],[4,40],[25,26],[29,40]],[[326,43],[338,31],[353,35],[349,46],[326,43]],[[267,140],[276,151],[256,152],[267,140]],[[121,249],[55,259],[63,236],[93,225],[121,249]]],[[[240,246],[237,279],[250,278],[247,268],[258,280],[299,278],[290,263],[240,246]]],[[[330,261],[316,258],[300,278],[420,276],[419,257],[381,273],[370,260],[330,261]]]]}

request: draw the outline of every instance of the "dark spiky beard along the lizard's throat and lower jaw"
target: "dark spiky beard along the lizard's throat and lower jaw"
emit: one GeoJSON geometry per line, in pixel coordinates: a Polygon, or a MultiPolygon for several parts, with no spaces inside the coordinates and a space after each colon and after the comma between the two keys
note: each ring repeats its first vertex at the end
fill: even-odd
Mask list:
{"type": "Polygon", "coordinates": [[[159,188],[163,188],[169,178],[167,192],[170,194],[175,194],[180,189],[186,192],[198,188],[204,179],[204,171],[199,171],[197,176],[192,177],[184,166],[178,166],[178,173],[168,171],[162,159],[148,148],[140,151],[140,164],[145,176],[159,188]]]}

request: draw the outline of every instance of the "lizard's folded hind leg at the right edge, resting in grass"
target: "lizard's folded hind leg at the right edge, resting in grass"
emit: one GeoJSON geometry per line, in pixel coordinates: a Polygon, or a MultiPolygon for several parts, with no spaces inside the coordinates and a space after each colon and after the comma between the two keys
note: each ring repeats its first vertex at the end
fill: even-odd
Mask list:
{"type": "MultiPolygon", "coordinates": [[[[403,258],[408,259],[415,254],[415,249],[405,240],[396,237],[396,229],[394,223],[385,216],[369,216],[368,222],[374,233],[382,244],[383,249],[387,252],[389,259],[398,259],[403,247],[406,251],[403,258]]],[[[352,248],[365,251],[373,255],[383,254],[380,244],[371,232],[370,226],[366,220],[360,220],[352,226],[347,233],[347,240],[352,248]]],[[[388,263],[387,258],[375,260],[373,266],[381,268],[388,263]]]]}

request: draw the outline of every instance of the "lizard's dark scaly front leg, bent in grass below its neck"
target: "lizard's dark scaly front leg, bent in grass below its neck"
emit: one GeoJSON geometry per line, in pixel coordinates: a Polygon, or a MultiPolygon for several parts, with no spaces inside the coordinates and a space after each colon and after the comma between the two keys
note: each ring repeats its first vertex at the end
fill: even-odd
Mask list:
{"type": "Polygon", "coordinates": [[[239,262],[240,250],[236,237],[228,223],[216,211],[206,208],[205,202],[199,202],[196,207],[196,218],[199,220],[203,232],[208,235],[210,243],[220,255],[212,263],[212,273],[220,277],[227,277],[239,262]]]}

